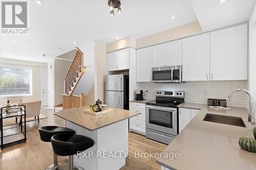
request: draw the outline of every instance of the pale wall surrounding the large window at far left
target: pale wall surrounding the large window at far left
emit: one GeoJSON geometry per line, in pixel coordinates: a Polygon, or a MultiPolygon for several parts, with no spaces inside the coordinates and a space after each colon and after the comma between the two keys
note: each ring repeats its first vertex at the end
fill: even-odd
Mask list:
{"type": "MultiPolygon", "coordinates": [[[[41,67],[47,67],[47,63],[1,58],[0,66],[31,68],[32,69],[32,95],[24,96],[23,101],[30,102],[30,101],[41,100],[41,67]]],[[[0,105],[5,106],[6,103],[7,103],[6,97],[0,96],[0,105]]]]}

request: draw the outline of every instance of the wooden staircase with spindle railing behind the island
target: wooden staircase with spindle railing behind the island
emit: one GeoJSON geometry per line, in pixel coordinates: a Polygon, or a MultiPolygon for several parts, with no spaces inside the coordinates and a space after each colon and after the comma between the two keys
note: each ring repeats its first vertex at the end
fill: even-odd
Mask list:
{"type": "Polygon", "coordinates": [[[75,47],[75,49],[77,50],[77,53],[63,81],[63,109],[81,107],[86,105],[86,96],[83,93],[80,95],[73,95],[76,85],[78,84],[82,75],[86,72],[86,67],[83,66],[83,53],[80,51],[78,47],[75,47]]]}

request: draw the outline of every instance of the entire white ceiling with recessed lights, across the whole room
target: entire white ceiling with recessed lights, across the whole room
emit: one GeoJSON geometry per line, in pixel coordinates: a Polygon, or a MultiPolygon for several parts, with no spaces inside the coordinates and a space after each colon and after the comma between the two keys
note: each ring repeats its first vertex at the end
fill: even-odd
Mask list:
{"type": "Polygon", "coordinates": [[[42,0],[41,5],[34,0],[29,2],[30,34],[1,36],[1,57],[47,62],[78,46],[87,60],[94,57],[94,42],[108,43],[116,37],[140,38],[196,20],[204,30],[221,28],[248,20],[255,4],[255,1],[223,4],[193,1],[192,4],[191,1],[121,0],[122,13],[111,16],[107,0],[42,0]],[[42,57],[42,54],[49,57],[42,57]]]}

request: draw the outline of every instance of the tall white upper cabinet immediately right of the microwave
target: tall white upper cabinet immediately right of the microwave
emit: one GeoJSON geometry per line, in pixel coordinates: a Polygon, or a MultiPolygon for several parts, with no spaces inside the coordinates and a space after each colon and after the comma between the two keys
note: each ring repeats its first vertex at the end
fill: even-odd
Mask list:
{"type": "Polygon", "coordinates": [[[209,80],[209,33],[182,40],[182,81],[209,80]]]}

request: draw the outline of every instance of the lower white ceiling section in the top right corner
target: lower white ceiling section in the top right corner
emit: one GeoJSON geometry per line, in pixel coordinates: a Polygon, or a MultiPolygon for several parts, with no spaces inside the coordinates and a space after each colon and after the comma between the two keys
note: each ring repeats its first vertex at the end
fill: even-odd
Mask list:
{"type": "Polygon", "coordinates": [[[192,4],[202,30],[210,31],[248,21],[255,1],[227,0],[219,4],[218,1],[197,0],[192,4]]]}

